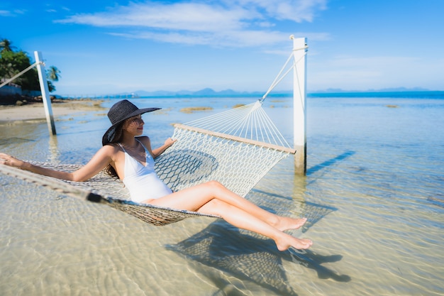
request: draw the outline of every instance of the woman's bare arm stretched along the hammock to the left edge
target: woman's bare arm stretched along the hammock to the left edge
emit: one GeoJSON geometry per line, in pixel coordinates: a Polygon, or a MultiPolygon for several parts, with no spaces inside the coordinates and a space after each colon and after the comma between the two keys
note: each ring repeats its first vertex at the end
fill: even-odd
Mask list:
{"type": "Polygon", "coordinates": [[[102,147],[97,151],[94,157],[89,160],[87,165],[84,165],[82,168],[79,168],[79,170],[75,170],[74,172],[63,172],[60,170],[52,170],[50,168],[42,168],[39,165],[33,165],[32,163],[14,158],[6,153],[0,153],[0,164],[28,170],[48,177],[55,177],[57,179],[81,182],[93,177],[103,170],[106,165],[111,163],[113,161],[114,150],[115,148],[113,146],[107,145],[102,147]]]}

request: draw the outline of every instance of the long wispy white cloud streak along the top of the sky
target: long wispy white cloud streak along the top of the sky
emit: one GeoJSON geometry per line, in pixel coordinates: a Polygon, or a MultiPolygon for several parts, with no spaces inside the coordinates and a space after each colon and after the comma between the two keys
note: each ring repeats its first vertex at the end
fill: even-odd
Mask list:
{"type": "Polygon", "coordinates": [[[286,40],[290,33],[277,30],[277,22],[312,21],[316,11],[325,9],[325,2],[326,0],[283,0],[278,3],[274,0],[221,0],[211,4],[130,3],[128,6],[116,6],[104,12],[76,14],[57,22],[113,28],[112,35],[127,38],[243,47],[286,40]],[[125,33],[119,32],[121,28],[126,29],[125,33]],[[270,28],[274,28],[274,31],[270,28]]]}

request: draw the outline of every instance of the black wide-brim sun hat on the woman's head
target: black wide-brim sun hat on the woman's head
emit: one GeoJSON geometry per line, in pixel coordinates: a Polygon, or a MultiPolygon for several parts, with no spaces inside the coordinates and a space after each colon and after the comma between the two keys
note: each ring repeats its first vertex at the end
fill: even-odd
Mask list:
{"type": "Polygon", "coordinates": [[[156,111],[159,109],[161,108],[138,109],[138,107],[135,106],[135,104],[129,102],[127,99],[124,99],[123,101],[113,104],[111,109],[109,109],[108,111],[108,118],[109,121],[111,121],[112,126],[108,128],[108,131],[106,131],[104,136],[101,138],[102,145],[105,146],[106,144],[111,143],[111,141],[113,141],[114,136],[116,136],[116,127],[122,121],[136,115],[156,111]]]}

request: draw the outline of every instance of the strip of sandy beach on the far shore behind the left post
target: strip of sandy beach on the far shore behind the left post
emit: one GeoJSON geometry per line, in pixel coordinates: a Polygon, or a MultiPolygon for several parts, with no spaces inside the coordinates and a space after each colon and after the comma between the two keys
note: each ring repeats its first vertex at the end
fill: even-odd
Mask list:
{"type": "MultiPolygon", "coordinates": [[[[101,106],[101,100],[67,100],[66,102],[52,102],[52,114],[55,116],[65,116],[82,111],[106,111],[101,106]]],[[[45,120],[45,108],[43,103],[32,103],[23,106],[6,105],[0,106],[0,123],[10,123],[11,121],[45,120]]],[[[57,119],[56,119],[57,120],[57,119]]]]}

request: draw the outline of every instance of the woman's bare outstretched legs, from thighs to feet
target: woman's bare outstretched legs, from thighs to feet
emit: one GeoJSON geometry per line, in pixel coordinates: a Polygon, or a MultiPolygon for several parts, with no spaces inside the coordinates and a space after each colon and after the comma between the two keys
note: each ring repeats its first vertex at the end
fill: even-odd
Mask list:
{"type": "Polygon", "coordinates": [[[216,214],[233,226],[273,239],[280,251],[287,250],[290,246],[309,248],[312,244],[309,239],[296,239],[282,232],[285,229],[300,227],[304,224],[300,219],[283,218],[267,212],[227,190],[218,182],[207,182],[147,202],[163,207],[216,214]]]}

